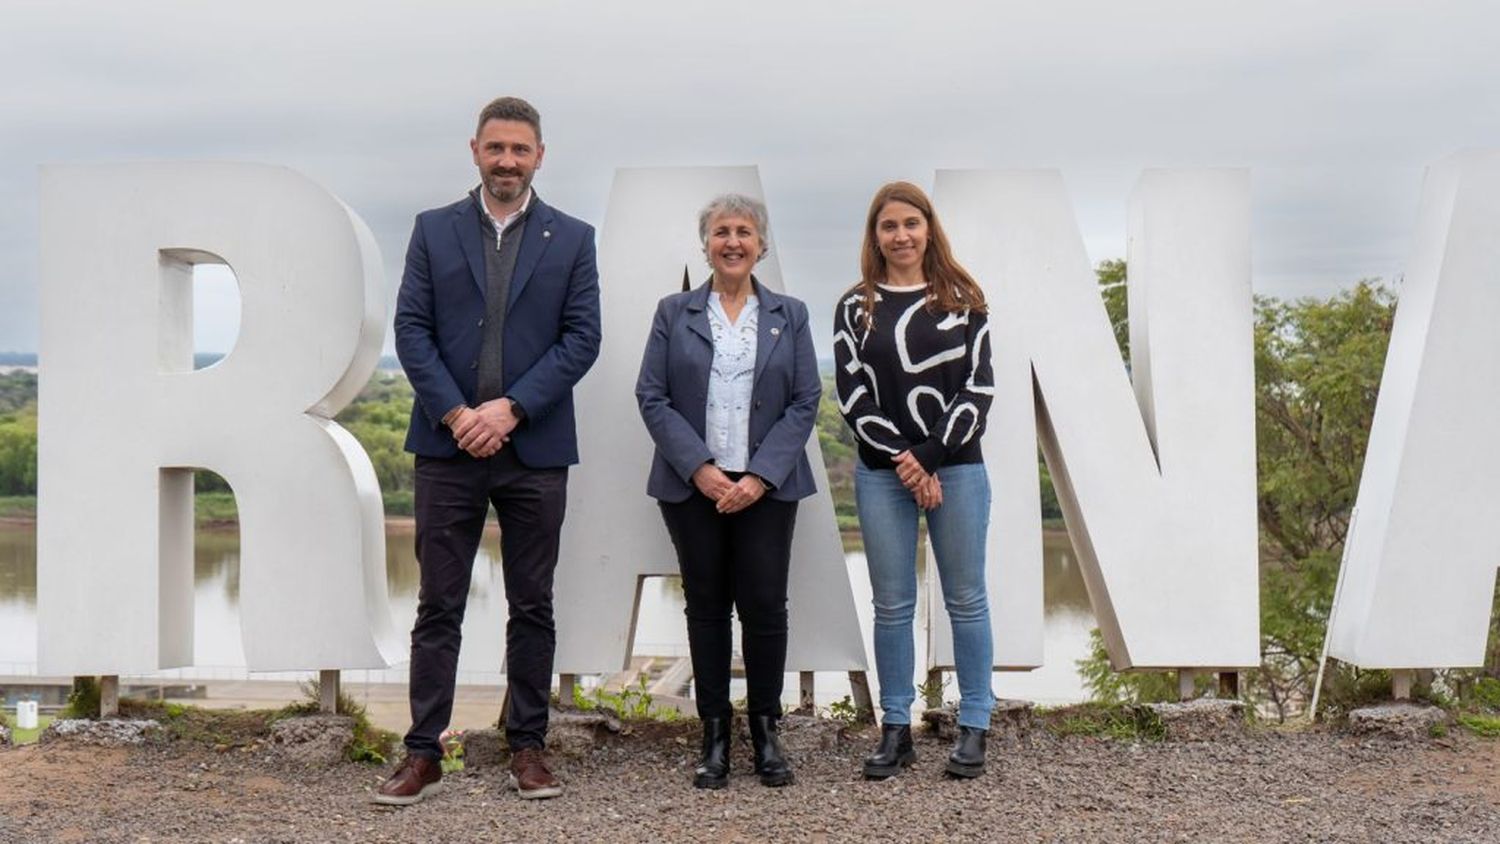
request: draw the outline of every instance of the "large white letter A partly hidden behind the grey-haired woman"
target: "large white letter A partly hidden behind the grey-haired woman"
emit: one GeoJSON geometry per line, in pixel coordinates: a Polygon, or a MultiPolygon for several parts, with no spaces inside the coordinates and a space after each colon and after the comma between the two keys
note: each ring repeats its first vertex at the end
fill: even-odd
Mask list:
{"type": "MultiPolygon", "coordinates": [[[[760,196],[756,168],[615,174],[598,250],[604,348],[579,385],[584,460],[568,483],[564,562],[556,573],[558,672],[622,669],[640,577],[678,573],[662,513],[645,493],[652,444],[636,414],[634,385],[657,300],[681,289],[684,264],[706,276],[706,268],[696,271],[704,267],[698,210],[724,192],[760,196]]],[[[756,268],[756,279],[783,289],[774,250],[756,268]]],[[[807,442],[807,456],[820,483],[796,514],[786,670],[864,670],[860,621],[816,436],[807,442]]]]}

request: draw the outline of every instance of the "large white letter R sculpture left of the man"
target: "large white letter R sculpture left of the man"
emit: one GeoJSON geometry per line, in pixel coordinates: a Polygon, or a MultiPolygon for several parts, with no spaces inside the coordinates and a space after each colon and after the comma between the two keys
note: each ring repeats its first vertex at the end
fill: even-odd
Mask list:
{"type": "Polygon", "coordinates": [[[248,666],[384,667],[380,486],[330,421],[380,357],[364,223],[282,168],[46,168],[40,298],[40,672],[192,663],[192,468],[234,487],[248,666]],[[234,270],[242,316],[194,372],[198,262],[234,270]]]}

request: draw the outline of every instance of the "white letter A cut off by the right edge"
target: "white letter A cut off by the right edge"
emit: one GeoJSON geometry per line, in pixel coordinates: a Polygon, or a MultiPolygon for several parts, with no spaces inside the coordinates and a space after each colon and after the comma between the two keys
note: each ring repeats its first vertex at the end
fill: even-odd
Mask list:
{"type": "Polygon", "coordinates": [[[1422,187],[1329,654],[1370,669],[1482,666],[1500,565],[1500,151],[1422,187]]]}

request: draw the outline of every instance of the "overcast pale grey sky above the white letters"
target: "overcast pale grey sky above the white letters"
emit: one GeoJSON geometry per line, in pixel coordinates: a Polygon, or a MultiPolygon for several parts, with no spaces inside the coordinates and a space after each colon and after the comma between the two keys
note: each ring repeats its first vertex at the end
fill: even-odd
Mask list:
{"type": "Polygon", "coordinates": [[[38,165],[291,166],[370,225],[393,297],[502,93],[542,109],[538,190],[596,225],[618,166],[759,165],[818,313],[892,178],[1060,168],[1098,261],[1140,169],[1248,166],[1256,289],[1323,295],[1401,273],[1428,163],[1500,147],[1485,1],[0,3],[0,351],[36,349],[38,165]]]}

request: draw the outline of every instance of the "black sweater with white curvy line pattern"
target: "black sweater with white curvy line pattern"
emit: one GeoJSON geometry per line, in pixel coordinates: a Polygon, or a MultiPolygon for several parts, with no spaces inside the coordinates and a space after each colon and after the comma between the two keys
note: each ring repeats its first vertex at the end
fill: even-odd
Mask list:
{"type": "Polygon", "coordinates": [[[860,288],[838,301],[838,411],[867,468],[890,469],[906,450],[928,472],[984,460],[980,435],[994,397],[988,318],[970,310],[934,313],[926,303],[926,285],[879,285],[874,327],[866,330],[860,288]]]}

